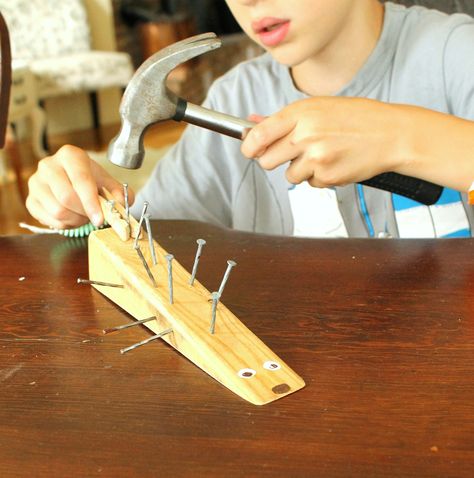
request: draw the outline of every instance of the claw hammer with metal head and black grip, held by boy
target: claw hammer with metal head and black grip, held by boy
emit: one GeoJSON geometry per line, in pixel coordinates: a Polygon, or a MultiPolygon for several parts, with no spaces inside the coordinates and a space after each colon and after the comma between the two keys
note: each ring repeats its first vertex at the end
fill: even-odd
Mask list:
{"type": "MultiPolygon", "coordinates": [[[[152,55],[135,72],[120,104],[122,127],[111,141],[108,158],[117,166],[138,169],[145,151],[143,137],[154,123],[185,121],[237,139],[255,123],[204,108],[176,96],[166,86],[169,73],[181,63],[221,46],[215,33],[203,33],[174,43],[152,55]]],[[[434,204],[443,191],[427,181],[383,173],[362,184],[401,194],[423,204],[434,204]]]]}

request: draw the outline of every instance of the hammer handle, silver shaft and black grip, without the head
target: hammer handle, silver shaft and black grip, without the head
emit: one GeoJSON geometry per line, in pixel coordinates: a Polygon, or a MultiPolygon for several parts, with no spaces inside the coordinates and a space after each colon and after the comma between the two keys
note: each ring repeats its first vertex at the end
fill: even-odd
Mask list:
{"type": "MultiPolygon", "coordinates": [[[[181,98],[178,100],[173,119],[183,120],[237,139],[243,139],[244,134],[255,126],[251,121],[197,106],[181,98]]],[[[437,184],[392,172],[379,174],[362,181],[361,184],[400,194],[427,206],[436,203],[443,192],[443,188],[437,184]]]]}

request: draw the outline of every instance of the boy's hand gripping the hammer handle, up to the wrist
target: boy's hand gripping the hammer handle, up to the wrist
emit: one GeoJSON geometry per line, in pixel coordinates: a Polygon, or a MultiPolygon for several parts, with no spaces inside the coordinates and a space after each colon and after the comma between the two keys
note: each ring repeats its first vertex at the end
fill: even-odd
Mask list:
{"type": "Polygon", "coordinates": [[[363,181],[395,171],[404,149],[397,106],[362,98],[309,98],[258,121],[242,153],[264,169],[291,160],[293,184],[315,187],[363,181]]]}

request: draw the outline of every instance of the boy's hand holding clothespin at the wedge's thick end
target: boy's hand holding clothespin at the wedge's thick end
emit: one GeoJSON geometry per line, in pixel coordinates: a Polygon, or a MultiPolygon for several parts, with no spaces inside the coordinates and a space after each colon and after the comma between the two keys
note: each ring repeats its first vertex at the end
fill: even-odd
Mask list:
{"type": "MultiPolygon", "coordinates": [[[[104,217],[98,191],[103,187],[124,202],[122,185],[75,146],[63,146],[56,154],[42,159],[28,186],[28,211],[42,224],[56,229],[89,221],[101,225],[104,217]]],[[[129,190],[130,204],[133,200],[133,191],[129,190]]]]}

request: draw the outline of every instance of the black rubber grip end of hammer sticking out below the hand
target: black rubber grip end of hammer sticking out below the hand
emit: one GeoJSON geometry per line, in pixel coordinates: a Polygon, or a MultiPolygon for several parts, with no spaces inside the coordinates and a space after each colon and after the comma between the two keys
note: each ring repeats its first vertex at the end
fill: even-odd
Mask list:
{"type": "Polygon", "coordinates": [[[435,204],[443,192],[443,188],[437,184],[398,173],[379,174],[372,179],[362,181],[361,184],[400,194],[426,206],[435,204]]]}

